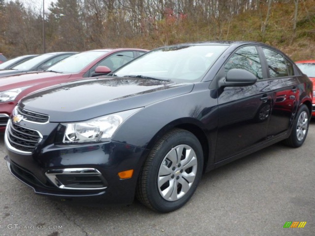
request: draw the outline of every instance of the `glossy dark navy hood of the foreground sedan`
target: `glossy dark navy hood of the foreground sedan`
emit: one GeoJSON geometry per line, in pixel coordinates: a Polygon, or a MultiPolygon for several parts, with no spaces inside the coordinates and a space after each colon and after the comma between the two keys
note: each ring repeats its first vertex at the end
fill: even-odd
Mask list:
{"type": "Polygon", "coordinates": [[[33,93],[20,102],[26,110],[49,115],[50,122],[85,121],[192,91],[193,84],[144,78],[84,79],[33,93]]]}

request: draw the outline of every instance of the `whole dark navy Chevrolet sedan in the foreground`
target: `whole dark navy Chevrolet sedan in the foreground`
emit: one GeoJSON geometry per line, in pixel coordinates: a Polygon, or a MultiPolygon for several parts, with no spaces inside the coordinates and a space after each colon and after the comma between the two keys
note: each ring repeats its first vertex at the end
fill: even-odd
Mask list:
{"type": "Polygon", "coordinates": [[[282,140],[300,147],[311,109],[312,82],[275,48],[168,46],[112,77],[22,98],[5,132],[5,159],[38,194],[127,204],[136,195],[169,212],[191,198],[205,171],[282,140]],[[290,102],[276,106],[279,98],[290,102]]]}

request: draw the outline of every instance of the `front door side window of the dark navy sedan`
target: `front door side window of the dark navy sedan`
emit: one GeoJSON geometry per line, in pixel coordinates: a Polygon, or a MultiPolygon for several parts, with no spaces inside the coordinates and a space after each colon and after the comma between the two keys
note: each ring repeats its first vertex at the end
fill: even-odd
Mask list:
{"type": "Polygon", "coordinates": [[[255,46],[244,47],[236,51],[224,66],[225,73],[231,69],[243,69],[262,79],[261,63],[255,46]]]}

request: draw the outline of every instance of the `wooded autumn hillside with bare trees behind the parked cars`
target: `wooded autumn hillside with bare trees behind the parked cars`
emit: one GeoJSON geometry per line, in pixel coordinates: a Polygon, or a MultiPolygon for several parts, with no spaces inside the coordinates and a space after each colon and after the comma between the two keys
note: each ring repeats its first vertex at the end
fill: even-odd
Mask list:
{"type": "Polygon", "coordinates": [[[57,0],[45,13],[45,34],[40,7],[0,0],[1,53],[244,40],[270,44],[295,61],[315,59],[315,0],[57,0]]]}

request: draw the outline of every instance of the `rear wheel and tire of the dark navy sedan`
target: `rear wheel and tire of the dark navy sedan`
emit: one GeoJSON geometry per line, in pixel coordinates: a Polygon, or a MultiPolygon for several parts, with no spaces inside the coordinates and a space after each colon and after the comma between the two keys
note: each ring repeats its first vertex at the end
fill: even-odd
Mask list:
{"type": "Polygon", "coordinates": [[[309,123],[310,112],[307,106],[303,104],[296,114],[291,134],[289,138],[285,140],[285,143],[293,148],[301,147],[306,139],[309,123]]]}

